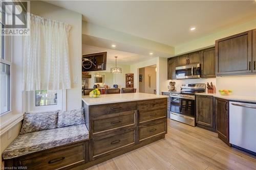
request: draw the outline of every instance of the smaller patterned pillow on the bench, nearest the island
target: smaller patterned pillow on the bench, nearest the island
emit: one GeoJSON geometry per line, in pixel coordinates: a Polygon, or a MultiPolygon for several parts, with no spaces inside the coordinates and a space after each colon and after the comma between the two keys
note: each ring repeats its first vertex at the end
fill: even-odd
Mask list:
{"type": "Polygon", "coordinates": [[[83,109],[58,112],[58,128],[80,124],[84,124],[83,109]]]}

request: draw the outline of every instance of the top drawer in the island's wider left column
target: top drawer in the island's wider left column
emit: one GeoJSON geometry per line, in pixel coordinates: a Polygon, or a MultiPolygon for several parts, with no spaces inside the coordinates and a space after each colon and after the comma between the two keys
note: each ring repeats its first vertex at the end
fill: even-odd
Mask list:
{"type": "Polygon", "coordinates": [[[132,110],[137,110],[137,102],[123,102],[89,106],[90,117],[132,110]]]}

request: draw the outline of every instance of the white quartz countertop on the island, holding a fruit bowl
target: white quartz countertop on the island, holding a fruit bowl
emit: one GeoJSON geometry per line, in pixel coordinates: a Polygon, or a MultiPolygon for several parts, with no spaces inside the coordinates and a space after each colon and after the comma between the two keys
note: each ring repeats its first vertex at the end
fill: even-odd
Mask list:
{"type": "Polygon", "coordinates": [[[99,98],[90,98],[89,95],[83,95],[82,101],[88,106],[101,105],[119,102],[132,102],[150,99],[168,98],[167,95],[148,94],[148,93],[119,93],[119,94],[101,94],[99,98]]]}

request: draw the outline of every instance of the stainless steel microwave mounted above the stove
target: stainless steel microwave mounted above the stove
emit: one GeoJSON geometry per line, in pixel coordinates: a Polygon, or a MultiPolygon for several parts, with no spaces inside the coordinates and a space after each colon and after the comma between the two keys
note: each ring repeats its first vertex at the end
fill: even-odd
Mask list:
{"type": "Polygon", "coordinates": [[[176,67],[176,79],[195,79],[201,77],[201,64],[176,67]]]}

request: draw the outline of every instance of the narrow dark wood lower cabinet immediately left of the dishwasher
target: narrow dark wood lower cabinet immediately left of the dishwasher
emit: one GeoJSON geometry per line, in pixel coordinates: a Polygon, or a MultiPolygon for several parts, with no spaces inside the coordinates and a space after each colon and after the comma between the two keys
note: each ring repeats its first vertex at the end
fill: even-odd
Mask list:
{"type": "Polygon", "coordinates": [[[230,146],[228,100],[216,98],[215,109],[218,137],[230,146]]]}

